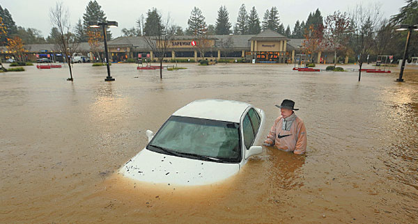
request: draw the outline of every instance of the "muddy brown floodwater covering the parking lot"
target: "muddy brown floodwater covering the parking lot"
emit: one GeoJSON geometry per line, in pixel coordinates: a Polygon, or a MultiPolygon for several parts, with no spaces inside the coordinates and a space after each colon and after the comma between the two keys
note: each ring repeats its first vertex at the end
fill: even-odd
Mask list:
{"type": "MultiPolygon", "coordinates": [[[[292,65],[134,64],[0,73],[0,223],[417,223],[418,67],[392,74],[295,72],[292,65]],[[249,102],[268,133],[293,99],[307,154],[263,147],[209,186],[116,174],[177,109],[195,99],[249,102]]],[[[346,65],[346,68],[357,67],[346,65]]]]}

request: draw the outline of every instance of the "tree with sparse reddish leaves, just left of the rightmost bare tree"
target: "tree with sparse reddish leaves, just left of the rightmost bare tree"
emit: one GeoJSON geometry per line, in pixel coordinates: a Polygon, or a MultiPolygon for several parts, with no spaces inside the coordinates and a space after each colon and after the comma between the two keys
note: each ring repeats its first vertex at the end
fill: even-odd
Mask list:
{"type": "Polygon", "coordinates": [[[334,67],[336,66],[336,52],[346,49],[349,31],[350,18],[346,13],[336,11],[325,18],[324,36],[328,49],[334,51],[334,67]]]}

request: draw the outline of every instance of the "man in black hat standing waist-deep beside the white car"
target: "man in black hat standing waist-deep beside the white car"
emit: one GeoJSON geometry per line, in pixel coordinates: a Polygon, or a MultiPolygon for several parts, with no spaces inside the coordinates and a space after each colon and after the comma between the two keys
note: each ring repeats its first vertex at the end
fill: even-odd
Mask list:
{"type": "Polygon", "coordinates": [[[279,150],[304,154],[307,151],[307,129],[302,119],[295,114],[299,110],[293,108],[295,102],[284,99],[280,106],[276,106],[280,109],[281,116],[274,120],[264,145],[274,145],[279,150]]]}

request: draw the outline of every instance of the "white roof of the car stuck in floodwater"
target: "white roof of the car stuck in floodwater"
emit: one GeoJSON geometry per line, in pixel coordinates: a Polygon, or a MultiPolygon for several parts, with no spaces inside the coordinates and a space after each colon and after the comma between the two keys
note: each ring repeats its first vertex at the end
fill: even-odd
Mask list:
{"type": "Polygon", "coordinates": [[[234,100],[199,99],[178,109],[173,115],[239,123],[242,113],[249,106],[251,104],[234,100]]]}

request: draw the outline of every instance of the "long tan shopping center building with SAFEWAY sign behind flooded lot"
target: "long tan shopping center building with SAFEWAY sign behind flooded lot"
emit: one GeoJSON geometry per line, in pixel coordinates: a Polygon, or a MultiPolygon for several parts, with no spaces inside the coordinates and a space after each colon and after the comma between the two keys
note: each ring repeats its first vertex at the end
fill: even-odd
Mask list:
{"type": "MultiPolygon", "coordinates": [[[[192,35],[183,35],[177,36],[175,40],[169,40],[164,61],[176,59],[198,61],[201,58],[219,61],[220,59],[245,58],[247,61],[254,59],[256,63],[294,63],[300,59],[298,55],[303,54],[303,40],[287,38],[269,29],[257,35],[208,35],[202,56],[199,40],[192,35]]],[[[109,59],[114,62],[127,61],[128,58],[137,61],[139,57],[143,58],[142,56],[147,56],[151,61],[156,60],[155,52],[151,50],[144,37],[119,37],[110,40],[107,45],[109,59]]],[[[24,54],[30,61],[35,61],[38,57],[59,58],[62,56],[62,52],[54,50],[56,49],[54,45],[25,45],[24,48],[24,54]]],[[[13,55],[7,51],[6,47],[0,47],[0,53],[3,59],[13,55]]],[[[91,61],[98,61],[98,58],[104,58],[104,47],[92,50],[88,43],[81,43],[77,53],[89,56],[91,61]]],[[[334,53],[318,52],[314,62],[333,63],[334,53]]]]}

